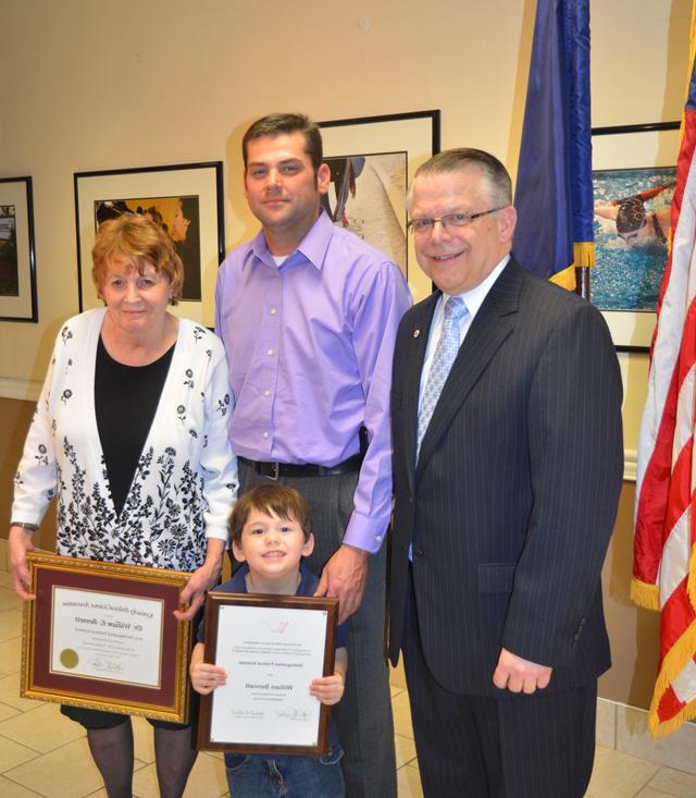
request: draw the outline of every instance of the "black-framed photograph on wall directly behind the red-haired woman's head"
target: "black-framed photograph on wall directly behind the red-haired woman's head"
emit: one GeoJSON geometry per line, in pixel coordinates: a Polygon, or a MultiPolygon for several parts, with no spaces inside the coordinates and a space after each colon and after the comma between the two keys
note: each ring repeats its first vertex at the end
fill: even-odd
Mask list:
{"type": "Polygon", "coordinates": [[[147,216],[170,233],[184,262],[184,296],[172,311],[212,327],[225,242],[222,161],[75,173],[80,311],[101,306],[91,281],[97,229],[123,213],[147,216]]]}

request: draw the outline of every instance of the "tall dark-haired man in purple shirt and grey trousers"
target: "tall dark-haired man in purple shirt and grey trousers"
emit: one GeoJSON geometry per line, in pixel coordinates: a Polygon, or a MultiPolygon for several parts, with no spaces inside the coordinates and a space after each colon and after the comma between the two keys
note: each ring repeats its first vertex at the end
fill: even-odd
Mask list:
{"type": "Polygon", "coordinates": [[[310,504],[316,594],[337,597],[348,619],[349,671],[335,710],[347,795],[390,798],[383,543],[391,356],[411,298],[395,263],[321,210],[331,172],[307,116],[258,120],[243,155],[245,196],[262,229],[225,259],[215,296],[240,487],[279,479],[310,504]]]}

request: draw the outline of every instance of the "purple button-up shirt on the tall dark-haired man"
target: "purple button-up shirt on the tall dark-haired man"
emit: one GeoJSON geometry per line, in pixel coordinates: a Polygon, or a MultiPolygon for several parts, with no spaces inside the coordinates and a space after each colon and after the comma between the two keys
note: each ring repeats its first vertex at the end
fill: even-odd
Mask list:
{"type": "Polygon", "coordinates": [[[344,543],[375,552],[391,512],[389,390],[411,296],[398,267],[322,212],[277,267],[263,232],[220,268],[229,440],[249,459],[333,466],[370,445],[344,543]]]}

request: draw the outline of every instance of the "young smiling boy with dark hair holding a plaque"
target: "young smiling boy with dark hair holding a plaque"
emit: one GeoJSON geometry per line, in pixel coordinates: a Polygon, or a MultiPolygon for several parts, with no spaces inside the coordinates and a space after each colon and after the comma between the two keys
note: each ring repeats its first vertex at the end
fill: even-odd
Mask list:
{"type": "MultiPolygon", "coordinates": [[[[244,493],[229,516],[229,537],[236,560],[244,565],[232,579],[215,590],[226,593],[274,593],[313,596],[319,579],[300,563],[312,553],[314,538],[307,502],[293,488],[259,484],[244,493]]],[[[190,677],[197,692],[208,695],[224,685],[222,667],[203,662],[203,624],[198,629],[190,677]]],[[[325,704],[335,704],[344,695],[348,653],[344,625],[336,635],[336,664],[332,676],[315,678],[310,695],[325,704]]],[[[234,674],[231,674],[234,678],[234,674]]],[[[344,778],[332,721],[330,753],[323,757],[225,753],[227,783],[234,798],[265,798],[285,795],[301,798],[343,798],[344,778]],[[282,787],[285,791],[283,791],[282,787]]]]}

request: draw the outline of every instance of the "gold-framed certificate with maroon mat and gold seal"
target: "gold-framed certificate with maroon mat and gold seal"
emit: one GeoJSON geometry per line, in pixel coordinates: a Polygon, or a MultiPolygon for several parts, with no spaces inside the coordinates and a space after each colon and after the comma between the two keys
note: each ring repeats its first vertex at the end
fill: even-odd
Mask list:
{"type": "Polygon", "coordinates": [[[20,692],[27,698],[188,720],[190,574],[30,552],[20,692]]]}

